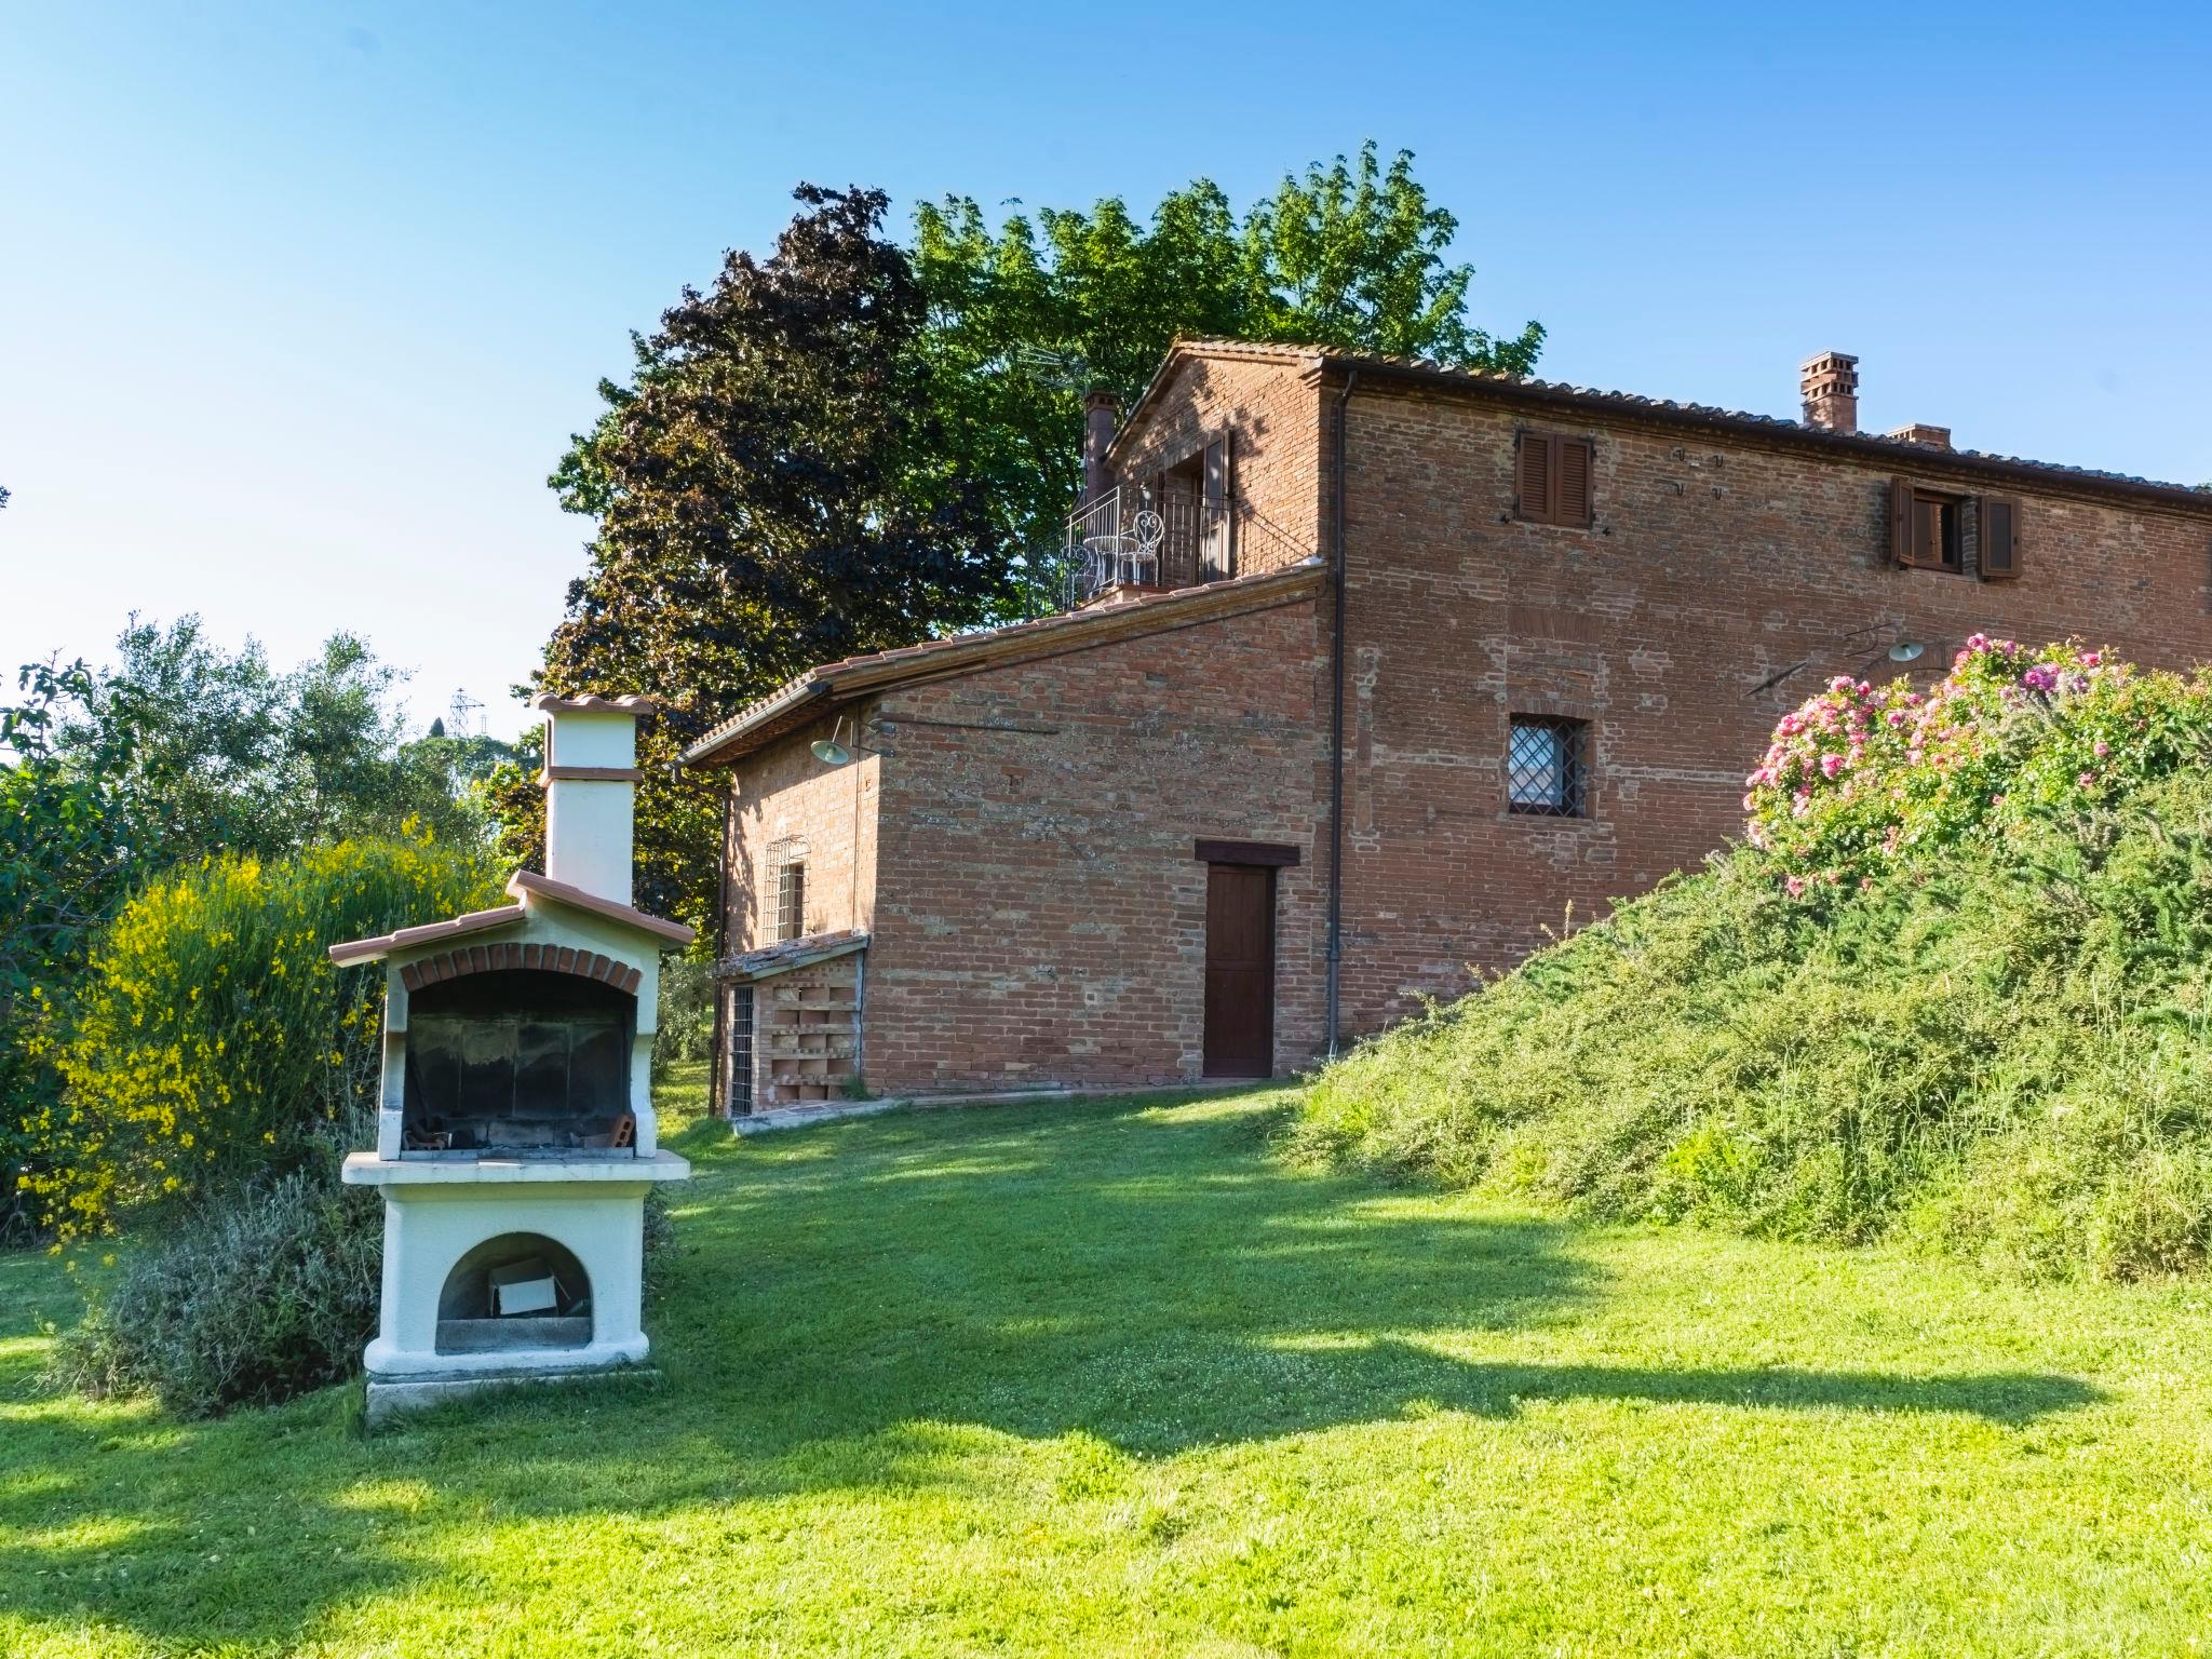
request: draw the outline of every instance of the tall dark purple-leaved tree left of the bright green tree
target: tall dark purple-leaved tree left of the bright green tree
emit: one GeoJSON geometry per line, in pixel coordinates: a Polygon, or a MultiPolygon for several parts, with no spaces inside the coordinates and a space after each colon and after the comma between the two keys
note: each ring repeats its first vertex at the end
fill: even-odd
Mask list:
{"type": "MultiPolygon", "coordinates": [[[[719,792],[668,776],[717,719],[812,664],[914,644],[1009,602],[1009,560],[960,465],[914,265],[880,190],[801,186],[770,259],[732,252],[637,341],[633,387],[553,476],[599,520],[546,646],[551,690],[641,690],[641,902],[712,920],[719,792]]],[[[509,838],[540,803],[493,785],[509,838]]]]}

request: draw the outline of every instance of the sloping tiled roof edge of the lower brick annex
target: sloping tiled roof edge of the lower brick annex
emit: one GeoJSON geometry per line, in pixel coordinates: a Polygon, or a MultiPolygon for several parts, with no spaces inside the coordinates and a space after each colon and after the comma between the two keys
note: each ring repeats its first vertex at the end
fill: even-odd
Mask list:
{"type": "Polygon", "coordinates": [[[1312,560],[1287,571],[1239,575],[1197,588],[1177,588],[1175,593],[1155,593],[1121,604],[1071,611],[1060,617],[1015,622],[987,633],[929,639],[920,646],[883,650],[874,657],[847,657],[845,661],[810,668],[772,697],[763,697],[734,719],[723,721],[684,750],[684,765],[730,765],[774,743],[779,737],[787,737],[821,719],[832,708],[896,686],[973,675],[1013,661],[1091,650],[1137,635],[1190,628],[1245,611],[1267,611],[1307,599],[1325,582],[1327,571],[1318,560],[1312,560]]]}

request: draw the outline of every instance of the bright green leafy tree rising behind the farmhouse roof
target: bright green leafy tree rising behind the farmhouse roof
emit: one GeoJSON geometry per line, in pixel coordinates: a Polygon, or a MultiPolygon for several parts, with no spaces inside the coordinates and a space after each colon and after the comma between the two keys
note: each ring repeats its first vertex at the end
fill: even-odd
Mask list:
{"type": "Polygon", "coordinates": [[[1119,197],[1015,212],[995,230],[969,197],[925,204],[916,270],[960,469],[989,484],[1006,540],[1044,553],[1082,484],[1082,394],[1130,403],[1177,338],[1526,374],[1544,330],[1491,336],[1467,321],[1475,272],[1447,261],[1455,232],[1411,153],[1385,168],[1371,142],[1356,161],[1285,177],[1241,221],[1208,179],[1166,195],[1150,223],[1119,197]]]}

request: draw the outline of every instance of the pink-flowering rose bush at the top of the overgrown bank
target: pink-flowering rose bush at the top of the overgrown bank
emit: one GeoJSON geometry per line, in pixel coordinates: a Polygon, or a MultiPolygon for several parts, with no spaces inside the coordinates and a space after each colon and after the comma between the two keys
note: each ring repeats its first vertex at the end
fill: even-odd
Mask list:
{"type": "Polygon", "coordinates": [[[1927,692],[1838,675],[1783,714],[1745,779],[1745,838],[1792,898],[1865,887],[1916,854],[2093,812],[2201,761],[2208,739],[2201,677],[1973,635],[1927,692]]]}

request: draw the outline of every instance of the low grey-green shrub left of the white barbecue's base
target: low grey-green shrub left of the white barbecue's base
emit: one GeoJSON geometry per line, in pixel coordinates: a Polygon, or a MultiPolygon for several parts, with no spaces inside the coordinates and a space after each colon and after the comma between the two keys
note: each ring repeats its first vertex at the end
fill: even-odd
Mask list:
{"type": "Polygon", "coordinates": [[[55,1345],[51,1380],[153,1394],[188,1418],[336,1383],[376,1332],[380,1250],[383,1208],[327,1172],[195,1203],[124,1256],[55,1345]]]}

